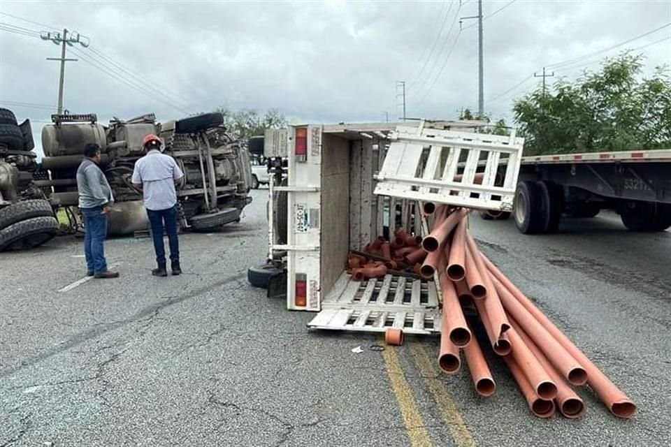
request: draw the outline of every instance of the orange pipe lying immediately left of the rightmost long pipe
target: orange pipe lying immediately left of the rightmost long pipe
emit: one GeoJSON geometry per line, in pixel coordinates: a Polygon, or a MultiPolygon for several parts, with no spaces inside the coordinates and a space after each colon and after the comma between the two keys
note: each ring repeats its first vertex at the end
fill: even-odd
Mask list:
{"type": "Polygon", "coordinates": [[[496,278],[491,276],[498,296],[507,312],[524,331],[547,354],[548,360],[558,372],[572,385],[584,385],[587,382],[587,373],[570,354],[550,335],[538,321],[528,313],[524,306],[515,300],[509,291],[496,278]]]}

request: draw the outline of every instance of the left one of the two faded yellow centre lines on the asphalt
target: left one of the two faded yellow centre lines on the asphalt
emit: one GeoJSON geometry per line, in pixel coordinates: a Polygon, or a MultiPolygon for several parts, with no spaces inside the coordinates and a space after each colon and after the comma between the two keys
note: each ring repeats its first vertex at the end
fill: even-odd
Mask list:
{"type": "MultiPolygon", "coordinates": [[[[384,337],[382,337],[380,343],[383,342],[384,337]]],[[[412,447],[431,447],[431,439],[428,437],[417,404],[414,403],[412,390],[410,390],[410,385],[405,380],[405,374],[401,369],[401,363],[398,362],[396,351],[392,346],[387,346],[387,349],[382,351],[382,358],[384,359],[384,365],[387,367],[391,389],[394,390],[396,401],[398,401],[398,408],[401,409],[401,417],[407,436],[410,437],[410,445],[412,447]]]]}

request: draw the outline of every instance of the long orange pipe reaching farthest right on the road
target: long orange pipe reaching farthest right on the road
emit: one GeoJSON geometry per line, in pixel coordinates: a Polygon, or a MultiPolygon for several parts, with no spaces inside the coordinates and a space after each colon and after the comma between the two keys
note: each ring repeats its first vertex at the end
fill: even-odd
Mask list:
{"type": "Polygon", "coordinates": [[[608,407],[608,409],[615,416],[619,418],[630,418],[636,411],[636,404],[633,400],[630,400],[626,394],[624,394],[619,388],[615,386],[608,377],[601,372],[601,370],[593,364],[587,356],[585,356],[582,351],[580,351],[571,340],[564,335],[559,328],[550,321],[545,314],[540,312],[540,310],[535,307],[533,302],[526,298],[524,293],[519,291],[509,279],[507,279],[503,273],[496,268],[496,265],[493,265],[489,259],[483,259],[489,268],[489,270],[494,274],[494,276],[501,281],[505,288],[512,293],[515,299],[517,299],[521,305],[523,305],[528,312],[533,315],[536,320],[543,325],[543,327],[556,339],[557,342],[564,347],[571,356],[573,356],[580,365],[584,367],[587,372],[587,384],[592,388],[596,394],[599,396],[599,399],[608,407]]]}

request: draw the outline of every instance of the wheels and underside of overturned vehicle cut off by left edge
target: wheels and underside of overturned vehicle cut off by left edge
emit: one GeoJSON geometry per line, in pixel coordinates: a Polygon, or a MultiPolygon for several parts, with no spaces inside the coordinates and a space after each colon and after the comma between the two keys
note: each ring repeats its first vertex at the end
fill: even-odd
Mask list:
{"type": "Polygon", "coordinates": [[[37,247],[59,232],[45,193],[33,182],[38,170],[30,121],[17,124],[0,108],[0,251],[37,247]]]}

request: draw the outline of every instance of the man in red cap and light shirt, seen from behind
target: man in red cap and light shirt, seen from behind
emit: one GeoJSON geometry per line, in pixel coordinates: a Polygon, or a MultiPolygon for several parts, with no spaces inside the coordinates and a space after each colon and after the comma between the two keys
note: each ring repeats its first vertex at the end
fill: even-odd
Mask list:
{"type": "Polygon", "coordinates": [[[154,251],[158,268],[152,270],[157,277],[166,277],[166,249],[163,243],[163,230],[168,233],[170,263],[172,274],[182,273],[180,267],[180,246],[177,237],[177,191],[178,182],[184,173],[173,157],[161,153],[161,139],[157,135],[146,135],[143,139],[145,156],[135,163],[133,171],[134,186],[141,188],[147,215],[152,226],[154,251]],[[164,226],[165,224],[165,226],[164,226]]]}

